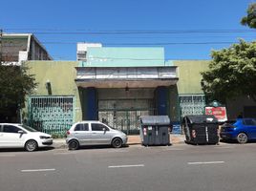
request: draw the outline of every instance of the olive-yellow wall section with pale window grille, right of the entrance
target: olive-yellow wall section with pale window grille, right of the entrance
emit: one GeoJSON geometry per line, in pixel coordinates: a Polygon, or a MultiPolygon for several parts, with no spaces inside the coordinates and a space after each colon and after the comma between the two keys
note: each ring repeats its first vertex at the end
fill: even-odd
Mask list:
{"type": "Polygon", "coordinates": [[[209,60],[175,60],[173,63],[179,71],[177,94],[180,113],[176,120],[180,122],[181,117],[186,115],[203,115],[205,96],[200,73],[208,69],[209,60]]]}

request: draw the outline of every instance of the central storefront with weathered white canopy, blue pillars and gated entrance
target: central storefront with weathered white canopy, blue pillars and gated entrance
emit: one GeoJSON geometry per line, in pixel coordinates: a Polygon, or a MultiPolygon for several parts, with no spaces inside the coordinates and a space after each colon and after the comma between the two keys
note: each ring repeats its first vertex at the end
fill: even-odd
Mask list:
{"type": "MultiPolygon", "coordinates": [[[[169,87],[176,67],[77,67],[83,119],[98,119],[129,135],[139,134],[139,117],[170,116],[169,87]]],[[[174,100],[175,101],[175,100],[174,100]]]]}

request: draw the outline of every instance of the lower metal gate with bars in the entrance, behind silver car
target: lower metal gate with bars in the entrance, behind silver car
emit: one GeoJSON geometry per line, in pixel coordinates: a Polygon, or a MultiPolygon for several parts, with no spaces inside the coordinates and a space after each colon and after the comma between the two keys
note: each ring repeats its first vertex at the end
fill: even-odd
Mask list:
{"type": "Polygon", "coordinates": [[[153,99],[98,100],[98,119],[127,135],[138,135],[139,117],[154,110],[153,99]]]}

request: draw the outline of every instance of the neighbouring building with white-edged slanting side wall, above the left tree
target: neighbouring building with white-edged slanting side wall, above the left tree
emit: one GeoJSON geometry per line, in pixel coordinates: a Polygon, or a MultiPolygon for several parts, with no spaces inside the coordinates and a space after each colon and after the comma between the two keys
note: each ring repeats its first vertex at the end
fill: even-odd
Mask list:
{"type": "Polygon", "coordinates": [[[2,64],[20,65],[27,60],[52,60],[32,33],[3,33],[0,43],[2,64]]]}

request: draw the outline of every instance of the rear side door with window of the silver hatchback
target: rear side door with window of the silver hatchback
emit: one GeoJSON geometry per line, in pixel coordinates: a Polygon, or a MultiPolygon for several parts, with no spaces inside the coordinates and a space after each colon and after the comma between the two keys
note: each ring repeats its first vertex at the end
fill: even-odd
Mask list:
{"type": "Polygon", "coordinates": [[[88,123],[77,123],[74,129],[74,136],[80,142],[80,145],[91,144],[92,134],[88,123]]]}

